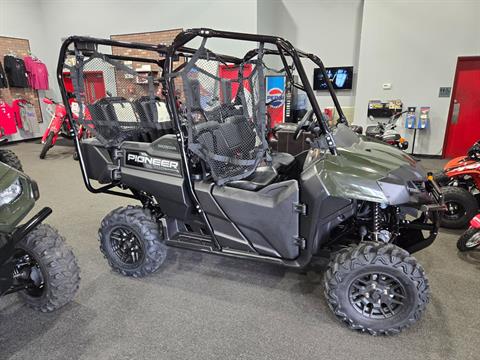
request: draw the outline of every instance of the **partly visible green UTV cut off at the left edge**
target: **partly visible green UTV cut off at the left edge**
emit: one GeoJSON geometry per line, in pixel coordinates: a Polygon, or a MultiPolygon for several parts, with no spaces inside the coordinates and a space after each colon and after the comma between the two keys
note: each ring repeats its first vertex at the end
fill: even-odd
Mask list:
{"type": "Polygon", "coordinates": [[[0,162],[0,297],[18,292],[28,306],[50,312],[73,299],[80,277],[63,237],[42,224],[50,208],[19,225],[39,196],[35,181],[0,162]]]}

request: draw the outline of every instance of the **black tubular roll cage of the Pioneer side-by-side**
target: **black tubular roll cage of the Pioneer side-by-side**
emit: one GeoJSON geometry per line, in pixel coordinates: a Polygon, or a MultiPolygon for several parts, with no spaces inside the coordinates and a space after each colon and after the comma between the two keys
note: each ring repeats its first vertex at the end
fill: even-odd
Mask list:
{"type": "MultiPolygon", "coordinates": [[[[347,123],[345,115],[342,111],[340,103],[335,94],[333,85],[330,82],[328,75],[326,73],[325,67],[318,56],[296,49],[290,42],[288,42],[287,40],[281,37],[200,28],[200,29],[189,29],[179,33],[174,39],[173,43],[169,46],[166,46],[162,44],[151,45],[151,44],[144,44],[144,43],[115,41],[115,40],[109,40],[109,39],[98,39],[98,38],[92,38],[92,37],[72,36],[67,38],[61,46],[59,61],[57,65],[57,79],[58,79],[63,102],[66,105],[67,118],[70,124],[72,125],[71,128],[73,133],[75,134],[75,146],[79,154],[82,175],[84,178],[85,185],[89,191],[93,193],[103,192],[107,194],[120,195],[124,197],[135,198],[135,199],[139,199],[140,197],[139,194],[128,194],[125,192],[112,190],[112,188],[119,185],[118,183],[115,183],[115,182],[101,186],[99,188],[93,187],[92,184],[90,183],[90,180],[87,175],[87,169],[85,167],[85,162],[83,161],[83,157],[81,153],[82,149],[80,146],[80,139],[78,136],[78,128],[74,124],[74,121],[73,121],[74,116],[72,114],[72,109],[69,106],[69,95],[64,86],[64,67],[65,67],[65,60],[67,56],[68,55],[78,56],[78,54],[86,54],[86,55],[91,54],[95,52],[96,48],[99,45],[127,48],[127,49],[146,50],[149,52],[157,53],[159,56],[158,59],[143,58],[143,57],[140,58],[137,56],[126,56],[126,55],[115,55],[115,54],[108,55],[108,58],[113,60],[118,60],[118,61],[141,60],[142,62],[145,62],[145,63],[156,64],[159,68],[162,69],[163,94],[166,99],[168,112],[170,113],[170,117],[173,120],[172,122],[176,132],[177,140],[182,145],[181,152],[182,152],[182,158],[184,161],[183,168],[185,171],[185,175],[187,179],[191,179],[189,166],[186,160],[187,159],[187,155],[186,155],[187,141],[185,139],[185,134],[182,131],[181,118],[178,113],[179,109],[177,106],[178,105],[177,98],[175,96],[175,82],[174,82],[173,74],[177,73],[178,71],[181,71],[182,68],[185,66],[185,63],[183,63],[180,66],[175,67],[175,64],[174,64],[175,59],[178,59],[178,57],[191,59],[193,56],[196,55],[197,49],[186,46],[190,41],[196,38],[201,38],[201,39],[223,38],[223,39],[240,40],[240,41],[247,41],[247,42],[256,42],[261,44],[260,47],[254,48],[248,51],[242,58],[231,56],[231,55],[219,54],[216,52],[212,52],[210,50],[206,50],[204,56],[206,56],[209,59],[215,59],[225,64],[245,63],[257,57],[260,51],[262,51],[263,54],[279,56],[282,61],[286,76],[288,77],[291,84],[305,91],[307,98],[312,106],[313,113],[318,119],[318,126],[320,128],[320,132],[325,137],[326,144],[329,148],[329,151],[333,155],[337,154],[335,140],[328,127],[328,124],[326,123],[324,117],[322,116],[321,109],[318,105],[318,102],[315,98],[314,91],[308,80],[305,69],[302,65],[301,58],[306,58],[311,60],[315,65],[317,65],[320,68],[320,71],[322,72],[323,77],[326,80],[327,88],[332,98],[332,101],[334,103],[334,106],[339,115],[338,122],[347,123]],[[270,48],[264,49],[263,48],[264,44],[271,44],[273,45],[274,49],[270,49],[270,48]],[[72,45],[73,45],[73,48],[72,48],[72,45]],[[294,79],[294,76],[292,74],[292,68],[289,66],[287,58],[291,59],[292,64],[298,73],[298,77],[300,79],[299,83],[296,82],[294,79]]],[[[195,200],[195,202],[198,203],[198,201],[196,201],[196,196],[193,191],[193,185],[191,184],[191,180],[188,180],[188,182],[190,183],[191,196],[195,200]]]]}

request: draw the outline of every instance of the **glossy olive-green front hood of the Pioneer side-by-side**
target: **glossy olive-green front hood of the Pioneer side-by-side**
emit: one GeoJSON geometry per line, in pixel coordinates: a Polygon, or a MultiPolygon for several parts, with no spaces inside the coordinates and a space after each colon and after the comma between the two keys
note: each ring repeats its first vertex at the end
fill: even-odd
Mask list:
{"type": "Polygon", "coordinates": [[[412,187],[426,180],[423,167],[403,151],[349,128],[335,133],[338,155],[321,152],[307,159],[331,196],[390,205],[417,202],[412,187]]]}

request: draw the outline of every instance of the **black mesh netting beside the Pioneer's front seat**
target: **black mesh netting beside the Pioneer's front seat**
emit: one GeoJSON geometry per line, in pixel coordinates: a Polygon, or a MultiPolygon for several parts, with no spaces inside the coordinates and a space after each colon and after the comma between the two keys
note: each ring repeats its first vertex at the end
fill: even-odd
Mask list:
{"type": "Polygon", "coordinates": [[[224,63],[204,45],[176,76],[183,84],[188,149],[221,185],[248,177],[266,156],[263,65],[261,55],[224,63]]]}

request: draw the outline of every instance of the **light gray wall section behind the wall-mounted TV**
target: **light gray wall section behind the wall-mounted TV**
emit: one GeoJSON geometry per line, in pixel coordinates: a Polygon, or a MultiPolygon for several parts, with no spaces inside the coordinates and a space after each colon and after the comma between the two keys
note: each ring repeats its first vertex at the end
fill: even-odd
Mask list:
{"type": "MultiPolygon", "coordinates": [[[[354,66],[360,46],[363,0],[258,0],[259,33],[279,35],[295,47],[317,54],[325,66],[354,66]]],[[[313,81],[313,63],[305,62],[313,81]]],[[[342,106],[353,106],[354,89],[340,91],[342,106]]],[[[321,107],[332,106],[328,92],[317,92],[321,107]]]]}

